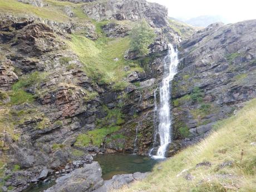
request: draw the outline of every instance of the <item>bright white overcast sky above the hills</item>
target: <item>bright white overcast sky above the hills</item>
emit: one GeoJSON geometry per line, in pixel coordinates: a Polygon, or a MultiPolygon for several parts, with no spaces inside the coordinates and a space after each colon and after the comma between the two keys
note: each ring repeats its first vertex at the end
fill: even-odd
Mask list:
{"type": "Polygon", "coordinates": [[[169,16],[189,19],[204,15],[221,16],[229,22],[256,19],[256,0],[147,0],[168,7],[169,16]]]}

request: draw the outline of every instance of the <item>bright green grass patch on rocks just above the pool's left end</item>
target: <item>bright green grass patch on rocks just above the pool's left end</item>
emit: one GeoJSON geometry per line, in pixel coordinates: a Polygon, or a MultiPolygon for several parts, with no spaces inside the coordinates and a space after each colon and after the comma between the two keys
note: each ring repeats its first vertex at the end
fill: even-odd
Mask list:
{"type": "Polygon", "coordinates": [[[112,134],[120,129],[120,126],[108,126],[101,129],[88,131],[86,134],[81,134],[77,137],[75,146],[98,146],[100,147],[107,135],[112,134]]]}

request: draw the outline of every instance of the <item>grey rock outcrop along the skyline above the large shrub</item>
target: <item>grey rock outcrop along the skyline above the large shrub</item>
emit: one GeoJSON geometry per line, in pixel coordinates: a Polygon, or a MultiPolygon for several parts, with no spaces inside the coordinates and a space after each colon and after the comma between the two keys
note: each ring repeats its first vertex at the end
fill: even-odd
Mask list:
{"type": "Polygon", "coordinates": [[[97,21],[104,19],[131,20],[146,18],[156,27],[167,26],[168,10],[156,3],[145,0],[111,0],[106,2],[93,2],[82,7],[85,13],[97,21]]]}

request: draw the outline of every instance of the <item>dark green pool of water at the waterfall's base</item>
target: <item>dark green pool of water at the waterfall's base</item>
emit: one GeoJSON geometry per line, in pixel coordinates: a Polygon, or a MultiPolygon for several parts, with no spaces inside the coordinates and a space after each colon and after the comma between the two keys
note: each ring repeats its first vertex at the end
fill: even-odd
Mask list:
{"type": "Polygon", "coordinates": [[[99,162],[104,180],[109,180],[117,174],[151,171],[158,162],[147,156],[130,154],[99,155],[94,157],[94,161],[99,162]]]}

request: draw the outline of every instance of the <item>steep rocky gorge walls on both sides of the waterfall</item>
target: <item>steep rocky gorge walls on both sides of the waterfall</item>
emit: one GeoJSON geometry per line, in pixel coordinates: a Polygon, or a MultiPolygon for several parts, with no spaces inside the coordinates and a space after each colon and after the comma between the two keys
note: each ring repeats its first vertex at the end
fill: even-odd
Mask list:
{"type": "Polygon", "coordinates": [[[91,155],[132,153],[136,136],[135,152],[147,155],[154,142],[154,90],[169,42],[180,57],[170,155],[256,97],[255,21],[212,24],[181,41],[168,25],[167,9],[143,0],[21,2],[28,4],[11,1],[31,10],[61,10],[65,21],[36,11],[1,14],[0,165],[6,164],[2,174],[9,190],[22,191],[46,169],[69,173],[91,163],[91,155]],[[157,35],[144,58],[125,46],[142,18],[157,35]],[[101,49],[112,56],[96,55],[104,55],[101,49]],[[84,52],[92,59],[83,58],[84,52]],[[111,63],[107,67],[120,65],[111,68],[113,79],[97,67],[101,60],[111,63]]]}

